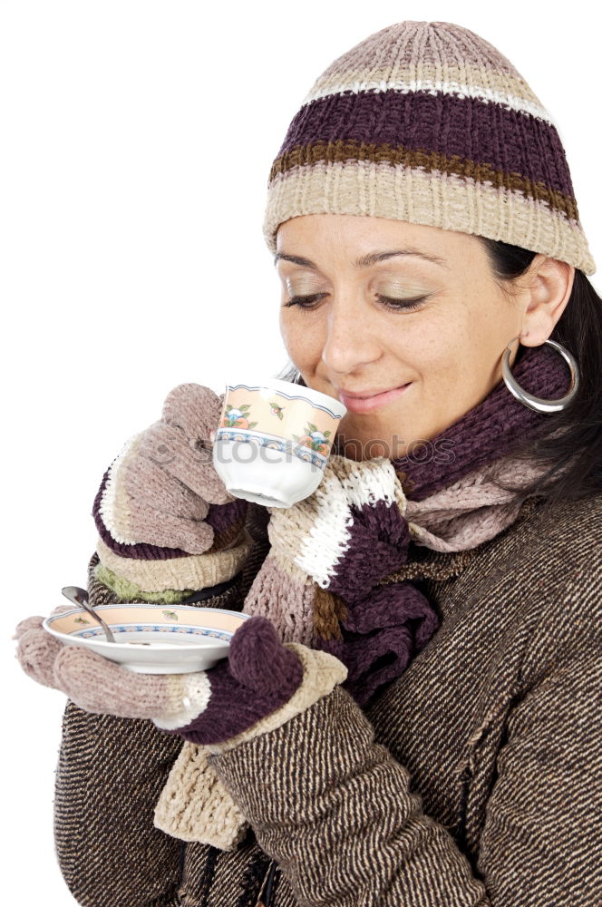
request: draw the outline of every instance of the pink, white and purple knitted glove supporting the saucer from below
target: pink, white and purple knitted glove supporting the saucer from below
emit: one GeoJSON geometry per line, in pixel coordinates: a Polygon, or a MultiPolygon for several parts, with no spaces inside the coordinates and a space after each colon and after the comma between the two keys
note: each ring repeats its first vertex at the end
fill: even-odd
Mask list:
{"type": "MultiPolygon", "coordinates": [[[[58,643],[57,650],[56,642],[40,627],[22,627],[17,658],[34,679],[44,678],[46,686],[61,689],[86,711],[150,718],[161,730],[197,745],[237,737],[283,707],[300,687],[306,663],[297,653],[303,647],[283,645],[261,617],[237,629],[228,658],[190,674],[138,674],[89,649],[58,643]]],[[[334,668],[341,679],[343,666],[320,655],[318,663],[334,668]]]]}

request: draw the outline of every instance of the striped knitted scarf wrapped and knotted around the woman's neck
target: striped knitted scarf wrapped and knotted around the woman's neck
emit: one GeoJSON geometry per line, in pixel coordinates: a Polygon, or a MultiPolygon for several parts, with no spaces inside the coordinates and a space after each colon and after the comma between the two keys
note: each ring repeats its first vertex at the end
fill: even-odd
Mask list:
{"type": "MultiPolygon", "coordinates": [[[[568,370],[558,355],[549,346],[522,349],[513,368],[519,384],[546,399],[566,394],[568,370]]],[[[549,418],[500,382],[432,439],[424,463],[412,457],[356,463],[333,453],[309,499],[287,510],[268,508],[272,547],[243,611],[272,620],[284,642],[340,658],[348,668],[343,686],[364,706],[439,626],[422,591],[409,580],[394,581],[410,542],[463,551],[514,522],[525,497],[498,481],[520,485],[542,472],[511,453],[549,418]]]]}

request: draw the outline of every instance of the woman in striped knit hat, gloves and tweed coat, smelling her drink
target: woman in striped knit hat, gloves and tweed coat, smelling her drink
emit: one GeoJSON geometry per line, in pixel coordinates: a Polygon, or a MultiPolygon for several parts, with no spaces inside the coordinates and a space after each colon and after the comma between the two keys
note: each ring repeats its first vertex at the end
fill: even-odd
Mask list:
{"type": "Polygon", "coordinates": [[[478,35],[393,24],[316,81],[264,229],[299,383],[348,412],[286,511],[226,493],[199,385],[105,473],[92,603],[254,617],[167,678],[21,622],[70,697],[65,881],[94,907],[597,904],[602,304],[558,132],[478,35]]]}

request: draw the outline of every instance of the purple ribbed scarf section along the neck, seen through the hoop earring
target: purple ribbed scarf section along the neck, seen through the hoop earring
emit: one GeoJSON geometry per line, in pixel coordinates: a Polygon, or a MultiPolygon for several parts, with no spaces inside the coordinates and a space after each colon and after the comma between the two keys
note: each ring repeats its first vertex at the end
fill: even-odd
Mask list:
{"type": "MultiPolygon", "coordinates": [[[[555,350],[543,345],[523,346],[522,350],[512,368],[521,387],[549,400],[568,393],[568,366],[555,350]]],[[[516,450],[525,437],[537,433],[553,417],[521,404],[502,380],[481,404],[441,434],[425,440],[421,453],[395,458],[393,467],[409,475],[408,499],[423,501],[481,465],[516,450]]],[[[403,485],[405,488],[405,480],[403,485]]]]}

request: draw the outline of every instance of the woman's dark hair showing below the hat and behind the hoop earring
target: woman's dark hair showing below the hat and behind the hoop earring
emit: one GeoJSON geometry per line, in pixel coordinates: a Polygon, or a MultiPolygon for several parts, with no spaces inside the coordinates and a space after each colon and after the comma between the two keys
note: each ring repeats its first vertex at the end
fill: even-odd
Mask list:
{"type": "MultiPolygon", "coordinates": [[[[537,254],[499,240],[478,239],[490,259],[494,279],[504,289],[529,269],[537,254]]],[[[550,339],[566,347],[577,360],[578,392],[568,406],[546,419],[536,437],[512,452],[520,460],[539,463],[543,470],[539,479],[529,485],[502,486],[523,497],[538,494],[549,504],[602,492],[602,299],[578,268],[568,304],[550,339]],[[572,465],[555,480],[554,473],[573,458],[572,465]]],[[[294,367],[287,366],[278,377],[305,385],[294,367]]]]}

